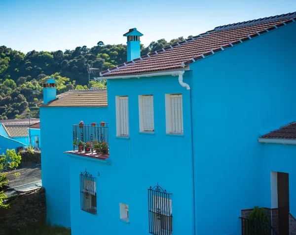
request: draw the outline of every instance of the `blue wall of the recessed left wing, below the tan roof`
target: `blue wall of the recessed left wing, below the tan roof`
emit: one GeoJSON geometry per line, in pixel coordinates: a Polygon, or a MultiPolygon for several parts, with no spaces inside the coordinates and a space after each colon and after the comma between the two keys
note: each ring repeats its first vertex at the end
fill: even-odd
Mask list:
{"type": "Polygon", "coordinates": [[[46,193],[46,219],[51,225],[71,226],[70,162],[63,152],[73,150],[72,125],[81,120],[108,122],[107,108],[40,107],[42,186],[46,193]]]}

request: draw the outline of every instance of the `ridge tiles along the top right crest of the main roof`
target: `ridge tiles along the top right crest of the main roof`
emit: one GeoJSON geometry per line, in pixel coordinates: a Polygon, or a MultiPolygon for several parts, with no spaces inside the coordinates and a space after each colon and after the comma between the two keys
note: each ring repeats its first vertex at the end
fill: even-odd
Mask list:
{"type": "Polygon", "coordinates": [[[241,26],[249,26],[249,25],[257,24],[258,22],[265,23],[273,20],[287,19],[287,18],[291,18],[292,15],[296,15],[296,11],[292,13],[287,13],[287,14],[269,16],[269,17],[264,17],[264,18],[249,20],[249,21],[243,21],[239,23],[217,26],[215,27],[215,30],[219,31],[219,30],[225,30],[225,29],[233,29],[241,26]]]}

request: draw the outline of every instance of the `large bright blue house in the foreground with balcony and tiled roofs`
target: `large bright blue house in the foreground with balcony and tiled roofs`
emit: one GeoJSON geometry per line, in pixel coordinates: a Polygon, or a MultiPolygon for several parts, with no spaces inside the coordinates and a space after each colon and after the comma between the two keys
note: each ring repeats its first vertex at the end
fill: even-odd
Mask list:
{"type": "Polygon", "coordinates": [[[40,107],[47,221],[73,235],[239,235],[259,206],[294,234],[296,135],[268,133],[296,120],[295,21],[219,26],[141,57],[129,30],[129,61],[101,72],[108,94],[40,107]]]}

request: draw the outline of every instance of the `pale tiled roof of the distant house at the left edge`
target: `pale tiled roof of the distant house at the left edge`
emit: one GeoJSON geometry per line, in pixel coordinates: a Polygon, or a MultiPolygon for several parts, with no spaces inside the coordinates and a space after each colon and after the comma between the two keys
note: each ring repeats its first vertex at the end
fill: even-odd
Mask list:
{"type": "MultiPolygon", "coordinates": [[[[39,118],[31,118],[30,123],[40,122],[39,118]]],[[[29,119],[8,119],[0,120],[8,137],[27,137],[29,136],[29,119]]]]}

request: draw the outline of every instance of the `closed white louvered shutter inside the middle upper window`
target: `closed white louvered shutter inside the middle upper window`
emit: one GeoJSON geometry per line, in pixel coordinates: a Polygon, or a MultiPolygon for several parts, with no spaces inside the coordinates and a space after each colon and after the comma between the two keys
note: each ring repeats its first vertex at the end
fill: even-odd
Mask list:
{"type": "Polygon", "coordinates": [[[154,131],[153,95],[142,96],[143,127],[146,132],[154,131]]]}

